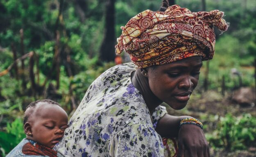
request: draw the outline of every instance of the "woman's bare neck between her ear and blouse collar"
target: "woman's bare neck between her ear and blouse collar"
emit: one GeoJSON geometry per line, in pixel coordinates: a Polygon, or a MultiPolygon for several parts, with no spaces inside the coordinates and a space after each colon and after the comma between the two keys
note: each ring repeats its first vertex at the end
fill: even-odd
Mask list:
{"type": "Polygon", "coordinates": [[[152,93],[148,78],[145,77],[138,69],[131,74],[131,82],[142,94],[147,108],[150,111],[150,115],[152,115],[154,109],[159,106],[162,101],[152,93]]]}

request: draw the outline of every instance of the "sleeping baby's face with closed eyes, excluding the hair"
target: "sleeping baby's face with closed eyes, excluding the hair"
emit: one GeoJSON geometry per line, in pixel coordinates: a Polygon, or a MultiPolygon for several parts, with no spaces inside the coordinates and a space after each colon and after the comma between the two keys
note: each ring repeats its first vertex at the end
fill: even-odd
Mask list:
{"type": "Polygon", "coordinates": [[[53,148],[61,140],[64,130],[68,127],[68,115],[57,105],[37,105],[36,111],[29,117],[32,130],[32,137],[29,139],[53,148]]]}

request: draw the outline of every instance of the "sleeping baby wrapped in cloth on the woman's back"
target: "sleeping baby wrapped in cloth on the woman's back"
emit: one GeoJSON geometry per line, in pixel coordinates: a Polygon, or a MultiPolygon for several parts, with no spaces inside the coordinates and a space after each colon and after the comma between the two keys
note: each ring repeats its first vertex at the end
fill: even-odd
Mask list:
{"type": "Polygon", "coordinates": [[[68,127],[68,115],[59,103],[52,100],[32,102],[26,108],[23,124],[27,138],[11,150],[7,157],[62,156],[52,150],[68,127]]]}

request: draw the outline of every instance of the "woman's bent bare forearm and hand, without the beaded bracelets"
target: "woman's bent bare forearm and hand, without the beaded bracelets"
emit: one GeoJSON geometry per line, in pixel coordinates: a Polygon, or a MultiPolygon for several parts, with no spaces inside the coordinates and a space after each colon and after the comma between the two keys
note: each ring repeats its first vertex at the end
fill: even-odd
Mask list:
{"type": "Polygon", "coordinates": [[[156,132],[161,137],[178,138],[177,157],[210,157],[209,146],[204,136],[203,130],[194,124],[184,124],[179,127],[183,118],[190,116],[172,116],[165,114],[159,119],[156,132]],[[185,155],[186,151],[186,156],[185,155]]]}

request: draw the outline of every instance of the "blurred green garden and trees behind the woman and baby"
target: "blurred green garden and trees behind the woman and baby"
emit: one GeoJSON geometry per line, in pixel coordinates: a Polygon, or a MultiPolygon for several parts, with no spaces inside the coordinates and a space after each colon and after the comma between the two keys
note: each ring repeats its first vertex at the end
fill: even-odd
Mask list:
{"type": "MultiPolygon", "coordinates": [[[[255,0],[169,0],[191,11],[224,11],[215,57],[204,62],[186,108],[204,124],[213,157],[256,157],[255,0]]],[[[161,0],[0,0],[0,156],[25,137],[23,114],[38,99],[52,99],[69,116],[88,86],[129,56],[115,55],[121,26],[161,0]]]]}

